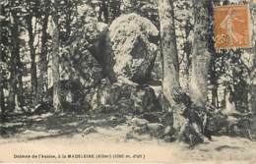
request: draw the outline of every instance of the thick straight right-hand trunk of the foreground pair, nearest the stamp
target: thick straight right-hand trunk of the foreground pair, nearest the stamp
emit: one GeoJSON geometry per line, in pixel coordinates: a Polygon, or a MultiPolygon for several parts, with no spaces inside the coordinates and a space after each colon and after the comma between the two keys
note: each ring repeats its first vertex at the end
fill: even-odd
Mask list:
{"type": "Polygon", "coordinates": [[[208,71],[211,61],[208,51],[209,42],[209,0],[193,0],[194,4],[194,42],[192,52],[192,76],[190,83],[190,96],[192,101],[201,107],[207,102],[208,71]]]}

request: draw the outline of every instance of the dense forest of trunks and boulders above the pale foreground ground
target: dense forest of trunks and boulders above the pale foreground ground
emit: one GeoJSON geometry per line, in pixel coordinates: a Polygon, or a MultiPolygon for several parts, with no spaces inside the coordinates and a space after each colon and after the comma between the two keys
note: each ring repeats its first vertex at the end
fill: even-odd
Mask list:
{"type": "Polygon", "coordinates": [[[1,0],[1,137],[128,124],[190,148],[254,140],[255,20],[252,0],[1,0]],[[250,45],[217,47],[215,8],[239,5],[250,45]]]}

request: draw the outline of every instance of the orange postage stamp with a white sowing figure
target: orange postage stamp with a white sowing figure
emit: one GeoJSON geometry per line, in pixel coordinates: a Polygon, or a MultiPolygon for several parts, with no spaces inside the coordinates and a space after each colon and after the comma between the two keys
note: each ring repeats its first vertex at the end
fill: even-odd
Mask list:
{"type": "Polygon", "coordinates": [[[248,5],[221,6],[214,9],[215,47],[251,47],[248,5]]]}

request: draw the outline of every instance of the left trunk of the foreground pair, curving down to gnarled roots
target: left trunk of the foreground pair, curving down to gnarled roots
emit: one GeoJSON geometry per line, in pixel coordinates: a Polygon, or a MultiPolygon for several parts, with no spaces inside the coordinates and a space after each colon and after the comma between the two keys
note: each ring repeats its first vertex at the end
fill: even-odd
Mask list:
{"type": "Polygon", "coordinates": [[[162,92],[168,111],[173,117],[175,138],[194,146],[202,142],[200,128],[195,120],[190,97],[183,92],[179,82],[179,66],[174,25],[173,1],[159,0],[160,41],[163,58],[162,92]]]}

